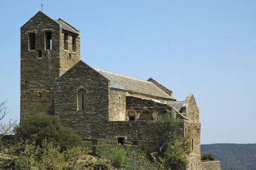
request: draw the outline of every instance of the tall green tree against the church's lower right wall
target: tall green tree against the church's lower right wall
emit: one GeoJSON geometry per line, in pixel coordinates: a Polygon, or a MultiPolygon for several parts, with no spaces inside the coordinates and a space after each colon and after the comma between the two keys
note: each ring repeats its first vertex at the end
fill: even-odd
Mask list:
{"type": "Polygon", "coordinates": [[[190,153],[188,136],[180,135],[179,120],[167,111],[159,115],[156,121],[159,128],[159,161],[165,169],[186,169],[187,156],[190,153]]]}

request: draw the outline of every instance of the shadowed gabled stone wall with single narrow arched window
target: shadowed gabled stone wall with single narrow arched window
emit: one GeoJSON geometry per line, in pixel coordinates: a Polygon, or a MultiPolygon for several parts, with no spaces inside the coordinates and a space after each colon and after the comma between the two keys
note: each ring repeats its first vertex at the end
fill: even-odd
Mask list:
{"type": "Polygon", "coordinates": [[[83,138],[108,138],[108,80],[79,61],[55,82],[55,112],[61,123],[83,138]],[[77,91],[84,89],[85,108],[77,111],[77,91]]]}

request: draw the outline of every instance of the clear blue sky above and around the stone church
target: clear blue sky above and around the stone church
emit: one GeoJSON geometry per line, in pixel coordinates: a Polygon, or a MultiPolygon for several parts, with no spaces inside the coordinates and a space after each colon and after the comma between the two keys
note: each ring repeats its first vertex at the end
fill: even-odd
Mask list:
{"type": "Polygon", "coordinates": [[[0,100],[19,120],[20,27],[41,9],[81,31],[89,65],[193,93],[201,143],[256,143],[256,1],[0,1],[0,100]]]}

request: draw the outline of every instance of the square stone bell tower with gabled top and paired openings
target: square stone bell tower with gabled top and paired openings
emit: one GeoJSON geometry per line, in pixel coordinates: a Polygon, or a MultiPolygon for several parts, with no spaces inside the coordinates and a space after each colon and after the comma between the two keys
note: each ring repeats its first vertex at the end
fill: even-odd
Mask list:
{"type": "Polygon", "coordinates": [[[80,60],[80,31],[38,12],[20,28],[20,119],[54,113],[54,81],[80,60]]]}

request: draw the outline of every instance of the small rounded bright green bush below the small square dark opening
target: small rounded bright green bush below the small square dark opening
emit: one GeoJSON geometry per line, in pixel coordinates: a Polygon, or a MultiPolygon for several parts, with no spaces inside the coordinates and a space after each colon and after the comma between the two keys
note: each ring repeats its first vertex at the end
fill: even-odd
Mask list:
{"type": "Polygon", "coordinates": [[[109,159],[113,162],[113,166],[120,167],[125,157],[124,148],[116,147],[111,149],[109,159]]]}

